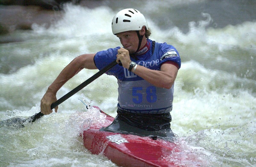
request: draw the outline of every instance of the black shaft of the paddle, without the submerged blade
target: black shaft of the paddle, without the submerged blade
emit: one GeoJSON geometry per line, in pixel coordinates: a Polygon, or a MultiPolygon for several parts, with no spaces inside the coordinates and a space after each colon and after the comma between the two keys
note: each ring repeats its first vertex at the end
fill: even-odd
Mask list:
{"type": "MultiPolygon", "coordinates": [[[[111,69],[112,67],[114,67],[117,64],[116,60],[111,62],[109,65],[107,65],[106,67],[104,67],[103,69],[101,69],[99,72],[97,72],[96,74],[94,74],[93,76],[91,76],[89,79],[87,79],[86,81],[84,81],[83,83],[81,83],[80,85],[78,85],[75,89],[73,89],[72,91],[68,92],[66,95],[64,95],[63,97],[61,97],[60,99],[58,99],[57,101],[53,102],[51,105],[51,110],[53,108],[55,108],[56,106],[60,105],[62,102],[64,102],[65,100],[67,100],[68,98],[70,98],[71,96],[73,96],[74,94],[76,94],[78,91],[80,91],[81,89],[83,89],[85,86],[87,86],[89,83],[91,83],[92,81],[94,81],[95,79],[97,79],[99,76],[101,76],[102,74],[104,74],[105,72],[107,72],[109,69],[111,69]]],[[[39,112],[36,113],[35,115],[31,116],[29,118],[29,122],[35,122],[37,119],[41,118],[42,116],[44,116],[43,113],[39,112]]]]}

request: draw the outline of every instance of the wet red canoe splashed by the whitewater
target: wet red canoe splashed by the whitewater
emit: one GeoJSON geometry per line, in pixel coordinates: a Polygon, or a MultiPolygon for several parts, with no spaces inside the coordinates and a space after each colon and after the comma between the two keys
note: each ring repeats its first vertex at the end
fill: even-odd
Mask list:
{"type": "MultiPolygon", "coordinates": [[[[101,110],[100,112],[104,113],[101,110]]],[[[113,117],[106,114],[106,121],[101,123],[101,127],[108,126],[113,120],[113,117]]],[[[195,155],[182,153],[180,145],[162,139],[153,140],[150,137],[100,131],[99,124],[91,125],[89,129],[84,130],[82,136],[84,147],[92,154],[104,154],[118,166],[202,165],[195,161],[195,155]]]]}

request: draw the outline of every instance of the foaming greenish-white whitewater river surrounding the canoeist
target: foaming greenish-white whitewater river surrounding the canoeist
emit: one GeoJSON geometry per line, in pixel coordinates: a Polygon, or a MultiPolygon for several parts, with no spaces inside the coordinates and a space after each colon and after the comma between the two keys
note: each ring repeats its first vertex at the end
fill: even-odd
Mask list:
{"type": "MultiPolygon", "coordinates": [[[[255,1],[117,2],[93,8],[66,4],[62,19],[53,19],[49,28],[17,30],[11,36],[22,41],[0,44],[0,120],[40,112],[47,87],[76,56],[121,46],[111,31],[112,18],[135,8],[148,20],[150,39],[180,53],[171,127],[184,154],[207,160],[203,166],[256,166],[255,1]]],[[[97,71],[82,70],[57,98],[97,71]]],[[[116,116],[116,78],[100,76],[63,102],[58,113],[24,128],[0,127],[0,166],[116,166],[83,147],[81,112],[90,121],[99,118],[79,99],[116,116]]]]}

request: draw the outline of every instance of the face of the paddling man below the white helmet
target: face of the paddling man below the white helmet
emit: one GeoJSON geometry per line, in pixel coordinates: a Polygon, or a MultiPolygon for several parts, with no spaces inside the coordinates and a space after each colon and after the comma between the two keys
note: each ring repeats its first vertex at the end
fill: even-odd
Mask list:
{"type": "Polygon", "coordinates": [[[121,44],[125,49],[129,51],[129,54],[133,54],[138,49],[139,38],[136,31],[126,31],[116,34],[121,44]]]}

